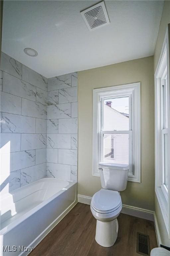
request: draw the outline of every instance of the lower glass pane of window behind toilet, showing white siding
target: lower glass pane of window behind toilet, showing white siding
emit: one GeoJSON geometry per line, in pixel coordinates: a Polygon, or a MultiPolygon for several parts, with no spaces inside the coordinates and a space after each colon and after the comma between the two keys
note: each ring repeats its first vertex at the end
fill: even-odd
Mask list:
{"type": "Polygon", "coordinates": [[[128,134],[104,134],[103,162],[129,164],[128,134]]]}

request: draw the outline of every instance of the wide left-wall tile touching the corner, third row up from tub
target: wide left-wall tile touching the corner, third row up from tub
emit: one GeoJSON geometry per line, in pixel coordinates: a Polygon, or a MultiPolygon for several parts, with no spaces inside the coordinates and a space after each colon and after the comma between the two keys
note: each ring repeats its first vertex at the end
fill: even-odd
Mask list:
{"type": "Polygon", "coordinates": [[[46,148],[46,134],[21,134],[21,150],[46,148]]]}

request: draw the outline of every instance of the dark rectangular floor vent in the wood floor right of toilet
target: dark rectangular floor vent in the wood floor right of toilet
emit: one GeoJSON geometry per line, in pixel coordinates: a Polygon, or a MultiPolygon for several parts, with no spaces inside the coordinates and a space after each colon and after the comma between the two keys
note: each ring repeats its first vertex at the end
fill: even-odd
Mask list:
{"type": "Polygon", "coordinates": [[[136,252],[141,255],[150,255],[150,242],[148,235],[137,232],[136,252]]]}

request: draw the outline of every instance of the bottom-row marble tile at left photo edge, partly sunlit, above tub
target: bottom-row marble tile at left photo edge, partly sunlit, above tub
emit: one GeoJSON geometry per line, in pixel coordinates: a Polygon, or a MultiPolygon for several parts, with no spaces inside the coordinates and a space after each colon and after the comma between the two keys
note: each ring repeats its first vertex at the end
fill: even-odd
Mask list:
{"type": "Polygon", "coordinates": [[[11,192],[14,189],[17,189],[20,187],[20,176],[21,176],[21,171],[13,171],[10,173],[9,176],[7,175],[1,175],[1,193],[7,193],[11,192]]]}

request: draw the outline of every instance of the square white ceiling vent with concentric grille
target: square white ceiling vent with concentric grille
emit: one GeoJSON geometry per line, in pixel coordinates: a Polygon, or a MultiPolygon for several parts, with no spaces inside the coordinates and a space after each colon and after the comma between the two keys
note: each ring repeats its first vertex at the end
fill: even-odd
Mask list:
{"type": "Polygon", "coordinates": [[[110,23],[104,1],[80,12],[90,31],[110,23]]]}

